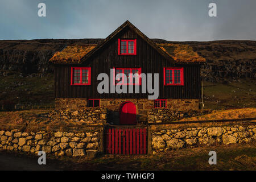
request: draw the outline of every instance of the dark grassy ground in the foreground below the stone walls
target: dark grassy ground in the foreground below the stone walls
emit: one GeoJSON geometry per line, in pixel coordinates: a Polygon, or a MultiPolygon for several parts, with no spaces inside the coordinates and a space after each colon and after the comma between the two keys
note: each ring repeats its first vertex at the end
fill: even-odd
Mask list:
{"type": "Polygon", "coordinates": [[[48,156],[46,165],[38,164],[38,156],[0,151],[1,170],[255,170],[256,143],[231,146],[183,148],[160,155],[101,155],[96,159],[48,156]],[[209,151],[216,151],[217,165],[209,165],[209,151]]]}

